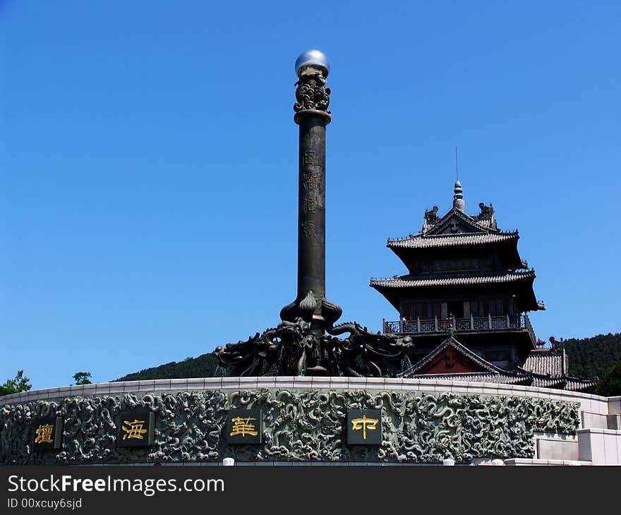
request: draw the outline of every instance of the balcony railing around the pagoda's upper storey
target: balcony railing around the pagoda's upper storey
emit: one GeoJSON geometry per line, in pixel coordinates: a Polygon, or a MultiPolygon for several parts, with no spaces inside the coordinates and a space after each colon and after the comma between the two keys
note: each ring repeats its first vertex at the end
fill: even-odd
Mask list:
{"type": "Polygon", "coordinates": [[[416,334],[426,332],[447,332],[453,329],[454,332],[480,332],[507,329],[521,329],[529,333],[533,344],[535,343],[535,332],[528,315],[503,315],[486,317],[468,318],[430,318],[416,320],[397,320],[397,322],[383,321],[385,333],[397,334],[416,334]]]}

